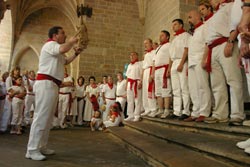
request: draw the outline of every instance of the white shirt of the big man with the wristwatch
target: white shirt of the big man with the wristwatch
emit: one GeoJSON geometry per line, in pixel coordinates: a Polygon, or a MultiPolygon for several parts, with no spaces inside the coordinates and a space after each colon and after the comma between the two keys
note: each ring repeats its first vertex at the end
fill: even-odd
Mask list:
{"type": "Polygon", "coordinates": [[[210,45],[215,39],[229,37],[231,8],[233,3],[223,3],[210,19],[206,35],[206,43],[210,45]]]}

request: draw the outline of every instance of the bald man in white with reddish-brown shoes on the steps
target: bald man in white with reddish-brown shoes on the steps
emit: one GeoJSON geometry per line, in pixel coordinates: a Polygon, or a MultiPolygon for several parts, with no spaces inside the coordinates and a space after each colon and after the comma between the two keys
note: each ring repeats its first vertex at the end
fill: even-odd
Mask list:
{"type": "Polygon", "coordinates": [[[196,10],[188,13],[188,22],[195,28],[193,36],[189,39],[188,49],[188,82],[193,110],[191,116],[184,121],[197,120],[197,122],[201,122],[200,120],[209,117],[211,112],[211,90],[208,73],[201,66],[205,49],[205,27],[200,13],[196,10]]]}

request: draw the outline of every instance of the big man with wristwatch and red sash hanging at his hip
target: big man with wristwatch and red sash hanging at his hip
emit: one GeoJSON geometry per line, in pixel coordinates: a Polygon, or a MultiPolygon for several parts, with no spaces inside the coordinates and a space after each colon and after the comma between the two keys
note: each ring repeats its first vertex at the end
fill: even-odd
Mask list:
{"type": "Polygon", "coordinates": [[[229,116],[227,86],[230,86],[230,124],[240,125],[245,118],[243,108],[242,74],[238,66],[236,31],[230,32],[232,2],[211,0],[217,12],[209,22],[206,44],[209,48],[207,71],[211,76],[211,87],[215,99],[212,117],[206,123],[227,122],[229,116]]]}

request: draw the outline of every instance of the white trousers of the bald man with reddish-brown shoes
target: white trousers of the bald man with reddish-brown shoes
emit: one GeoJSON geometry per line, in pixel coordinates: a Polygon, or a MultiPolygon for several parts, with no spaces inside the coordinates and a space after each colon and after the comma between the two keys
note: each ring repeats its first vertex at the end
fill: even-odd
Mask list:
{"type": "Polygon", "coordinates": [[[209,87],[209,76],[201,64],[189,67],[188,85],[190,97],[193,102],[191,116],[208,117],[211,113],[211,89],[209,87]]]}

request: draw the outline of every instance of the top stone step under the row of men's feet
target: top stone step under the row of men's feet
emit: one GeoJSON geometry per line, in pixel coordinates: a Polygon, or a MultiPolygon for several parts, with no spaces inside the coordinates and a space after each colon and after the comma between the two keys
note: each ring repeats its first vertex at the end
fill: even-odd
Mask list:
{"type": "Polygon", "coordinates": [[[165,128],[178,131],[196,132],[237,140],[245,140],[250,136],[250,127],[229,126],[228,123],[207,124],[203,122],[184,122],[177,119],[160,119],[151,117],[143,117],[143,122],[158,124],[165,128]]]}

